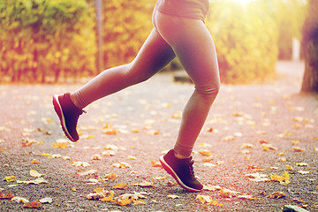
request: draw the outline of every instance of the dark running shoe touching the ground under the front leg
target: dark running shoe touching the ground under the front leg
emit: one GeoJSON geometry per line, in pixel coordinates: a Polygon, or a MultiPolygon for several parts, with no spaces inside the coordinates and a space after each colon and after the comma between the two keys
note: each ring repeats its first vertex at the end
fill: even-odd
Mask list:
{"type": "Polygon", "coordinates": [[[183,187],[189,192],[201,192],[203,186],[195,178],[193,172],[193,158],[178,159],[171,149],[166,155],[159,158],[163,169],[166,170],[173,178],[176,179],[178,185],[183,187]]]}

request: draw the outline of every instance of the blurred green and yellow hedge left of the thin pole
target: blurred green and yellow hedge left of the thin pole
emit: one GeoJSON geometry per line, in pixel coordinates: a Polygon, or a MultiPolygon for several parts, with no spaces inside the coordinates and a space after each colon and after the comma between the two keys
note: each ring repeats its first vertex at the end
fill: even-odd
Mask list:
{"type": "Polygon", "coordinates": [[[95,70],[94,11],[85,0],[0,0],[0,74],[45,82],[95,70]]]}

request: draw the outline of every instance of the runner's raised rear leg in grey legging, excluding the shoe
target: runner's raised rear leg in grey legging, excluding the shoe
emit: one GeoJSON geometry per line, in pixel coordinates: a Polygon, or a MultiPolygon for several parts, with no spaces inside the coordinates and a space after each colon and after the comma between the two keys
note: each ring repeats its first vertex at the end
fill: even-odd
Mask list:
{"type": "Polygon", "coordinates": [[[95,100],[149,79],[174,57],[173,49],[154,28],[132,63],[101,72],[71,94],[72,102],[83,109],[95,100]]]}

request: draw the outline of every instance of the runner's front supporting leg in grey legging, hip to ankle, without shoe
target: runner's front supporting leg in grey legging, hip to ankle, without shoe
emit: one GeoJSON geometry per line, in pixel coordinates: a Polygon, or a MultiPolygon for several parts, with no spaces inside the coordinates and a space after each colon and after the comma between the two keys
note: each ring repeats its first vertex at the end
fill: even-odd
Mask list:
{"type": "Polygon", "coordinates": [[[195,86],[183,111],[174,147],[178,158],[188,158],[220,87],[216,48],[200,19],[179,18],[157,11],[155,26],[175,51],[195,86]]]}

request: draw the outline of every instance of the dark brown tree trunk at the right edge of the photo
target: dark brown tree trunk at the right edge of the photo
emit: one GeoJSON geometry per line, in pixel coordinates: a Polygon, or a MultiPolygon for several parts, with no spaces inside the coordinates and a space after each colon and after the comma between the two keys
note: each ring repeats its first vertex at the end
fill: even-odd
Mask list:
{"type": "Polygon", "coordinates": [[[307,19],[302,28],[305,73],[301,91],[318,93],[318,1],[309,0],[307,19]]]}

